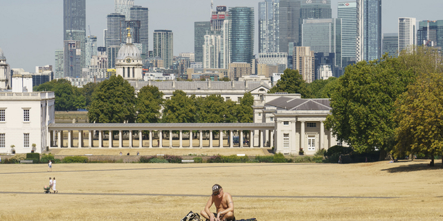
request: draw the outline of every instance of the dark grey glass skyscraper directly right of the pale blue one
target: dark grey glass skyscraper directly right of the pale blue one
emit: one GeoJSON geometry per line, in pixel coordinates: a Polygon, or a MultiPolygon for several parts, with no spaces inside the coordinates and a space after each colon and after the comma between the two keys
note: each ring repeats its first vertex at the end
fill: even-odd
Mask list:
{"type": "Polygon", "coordinates": [[[300,0],[280,0],[278,14],[279,52],[289,52],[290,42],[299,43],[300,0]]]}

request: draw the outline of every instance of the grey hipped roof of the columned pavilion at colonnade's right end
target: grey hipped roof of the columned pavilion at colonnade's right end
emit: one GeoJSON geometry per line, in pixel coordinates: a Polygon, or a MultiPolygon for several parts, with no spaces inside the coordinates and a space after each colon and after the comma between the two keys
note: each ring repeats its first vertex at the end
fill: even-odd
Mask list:
{"type": "Polygon", "coordinates": [[[329,99],[279,97],[266,103],[266,106],[274,106],[287,111],[331,111],[329,103],[329,99]]]}

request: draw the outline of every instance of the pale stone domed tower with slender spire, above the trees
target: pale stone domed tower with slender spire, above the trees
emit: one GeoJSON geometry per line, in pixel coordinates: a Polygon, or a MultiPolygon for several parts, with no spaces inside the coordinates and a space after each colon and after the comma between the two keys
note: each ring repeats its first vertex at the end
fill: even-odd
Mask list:
{"type": "Polygon", "coordinates": [[[132,44],[130,28],[127,28],[126,44],[118,50],[116,57],[116,72],[125,80],[139,80],[143,79],[143,61],[141,52],[134,44],[132,44]]]}

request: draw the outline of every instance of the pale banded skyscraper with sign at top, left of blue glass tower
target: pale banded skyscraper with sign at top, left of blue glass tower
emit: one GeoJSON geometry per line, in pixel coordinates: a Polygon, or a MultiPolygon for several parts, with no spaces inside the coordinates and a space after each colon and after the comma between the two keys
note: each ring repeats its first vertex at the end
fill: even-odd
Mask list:
{"type": "Polygon", "coordinates": [[[338,19],[341,19],[341,64],[345,67],[355,60],[356,2],[338,2],[338,19]]]}

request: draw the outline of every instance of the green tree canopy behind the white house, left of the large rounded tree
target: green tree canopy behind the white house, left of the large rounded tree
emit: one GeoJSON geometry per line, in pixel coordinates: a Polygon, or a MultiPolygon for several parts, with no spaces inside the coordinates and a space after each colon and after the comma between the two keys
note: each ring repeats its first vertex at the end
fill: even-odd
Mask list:
{"type": "Polygon", "coordinates": [[[53,91],[55,95],[55,111],[77,111],[84,108],[86,101],[81,90],[71,85],[67,79],[57,79],[40,84],[35,91],[53,91]]]}

